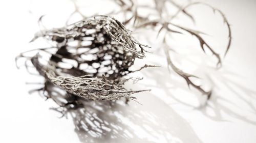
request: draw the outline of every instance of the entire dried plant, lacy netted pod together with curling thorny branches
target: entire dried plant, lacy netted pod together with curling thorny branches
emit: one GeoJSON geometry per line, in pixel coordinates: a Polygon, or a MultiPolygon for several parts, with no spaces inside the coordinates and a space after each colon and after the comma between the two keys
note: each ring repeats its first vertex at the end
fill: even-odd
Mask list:
{"type": "MultiPolygon", "coordinates": [[[[63,28],[41,30],[35,34],[34,39],[31,41],[33,42],[37,38],[44,38],[46,41],[55,44],[53,47],[36,49],[50,55],[47,64],[40,63],[40,59],[46,60],[46,57],[42,56],[40,52],[33,56],[26,56],[27,52],[24,52],[16,58],[16,61],[19,58],[26,58],[25,66],[27,69],[29,67],[28,63],[31,62],[38,73],[45,77],[44,88],[37,91],[44,91],[44,93],[47,93],[45,95],[47,98],[52,98],[52,91],[49,91],[48,88],[54,84],[55,87],[66,91],[66,94],[63,95],[64,99],[70,97],[78,99],[77,97],[79,97],[79,100],[117,100],[125,97],[126,99],[135,100],[136,98],[132,94],[145,90],[126,90],[123,87],[124,82],[130,79],[136,82],[141,79],[127,77],[127,74],[146,67],[156,66],[145,65],[138,70],[130,70],[130,67],[134,65],[135,59],[143,59],[145,52],[147,52],[146,48],[150,48],[150,46],[136,41],[131,36],[131,31],[125,28],[125,26],[132,25],[135,30],[141,28],[154,30],[157,37],[165,31],[162,42],[168,69],[173,69],[186,80],[188,86],[194,87],[203,95],[206,95],[208,99],[210,98],[211,90],[205,91],[201,85],[197,85],[191,80],[191,77],[198,78],[197,76],[183,72],[174,64],[169,53],[170,46],[167,43],[167,35],[170,33],[187,33],[195,36],[200,43],[201,49],[203,51],[205,51],[205,48],[209,49],[217,58],[217,68],[220,68],[222,58],[204,40],[201,36],[203,33],[176,24],[173,19],[177,18],[179,14],[184,14],[195,22],[194,17],[187,11],[187,8],[193,5],[204,5],[214,10],[214,12],[220,13],[228,27],[229,34],[225,56],[231,44],[231,29],[222,11],[201,2],[188,3],[185,6],[181,6],[173,0],[154,0],[154,5],[152,6],[138,5],[134,0],[113,0],[120,8],[118,11],[105,14],[107,16],[87,17],[80,11],[76,1],[73,2],[75,11],[70,16],[78,13],[84,20],[67,24],[63,28]],[[178,11],[175,14],[169,14],[166,7],[167,3],[176,7],[178,11]],[[140,15],[140,8],[147,9],[149,11],[148,15],[140,15]],[[113,18],[118,14],[123,15],[123,22],[113,18]]],[[[67,23],[69,23],[69,19],[67,23]]],[[[65,104],[70,103],[68,101],[65,102],[65,104]]],[[[72,104],[78,105],[78,103],[80,103],[78,100],[72,101],[72,104]]],[[[63,106],[63,103],[61,103],[61,106],[63,106]]]]}

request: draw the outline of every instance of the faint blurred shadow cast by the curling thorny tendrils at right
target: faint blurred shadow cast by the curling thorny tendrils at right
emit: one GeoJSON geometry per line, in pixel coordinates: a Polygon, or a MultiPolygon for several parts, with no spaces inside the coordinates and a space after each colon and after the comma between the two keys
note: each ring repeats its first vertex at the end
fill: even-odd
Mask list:
{"type": "MultiPolygon", "coordinates": [[[[182,105],[186,105],[193,109],[200,110],[201,113],[210,120],[229,122],[224,118],[224,115],[228,115],[232,118],[256,126],[256,91],[248,88],[245,83],[239,80],[241,79],[240,75],[228,70],[227,68],[223,67],[221,70],[208,68],[204,71],[206,71],[208,75],[206,78],[214,86],[211,98],[208,101],[205,100],[203,96],[196,95],[198,92],[187,88],[185,81],[182,82],[176,78],[171,79],[164,76],[169,73],[163,67],[159,70],[153,69],[143,71],[143,75],[145,75],[145,77],[156,79],[155,84],[146,83],[144,85],[149,88],[161,87],[161,91],[176,102],[182,103],[182,105]],[[195,97],[199,98],[199,100],[202,100],[200,98],[203,98],[205,104],[203,106],[195,106],[185,102],[185,100],[182,99],[184,96],[180,98],[178,95],[172,93],[172,90],[177,88],[189,93],[194,93],[196,95],[195,97]]],[[[171,76],[178,75],[172,74],[171,76]]]]}

